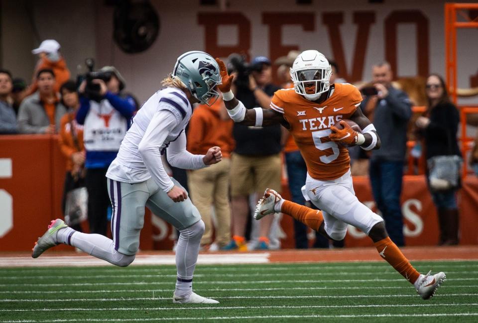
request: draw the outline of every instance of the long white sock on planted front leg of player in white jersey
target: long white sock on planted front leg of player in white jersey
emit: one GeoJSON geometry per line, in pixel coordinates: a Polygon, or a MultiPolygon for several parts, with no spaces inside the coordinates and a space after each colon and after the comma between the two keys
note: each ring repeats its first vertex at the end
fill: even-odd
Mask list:
{"type": "Polygon", "coordinates": [[[204,233],[204,222],[200,220],[179,232],[176,248],[178,277],[174,293],[178,297],[186,297],[193,292],[193,274],[198,260],[201,237],[204,233]]]}

